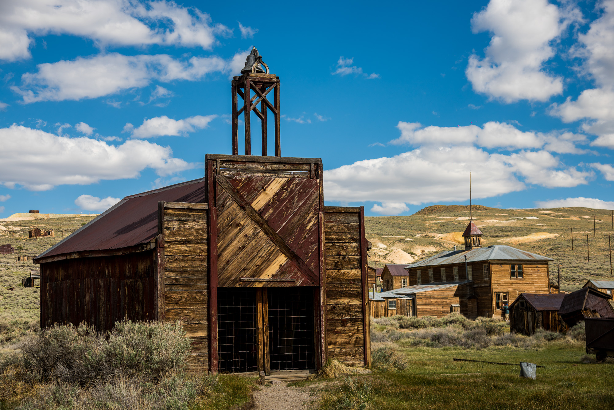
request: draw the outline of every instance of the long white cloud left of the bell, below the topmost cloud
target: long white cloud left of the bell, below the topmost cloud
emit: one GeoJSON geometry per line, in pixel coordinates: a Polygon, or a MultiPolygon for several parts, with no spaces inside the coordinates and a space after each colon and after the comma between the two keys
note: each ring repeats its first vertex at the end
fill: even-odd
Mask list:
{"type": "MultiPolygon", "coordinates": [[[[166,54],[126,56],[119,53],[38,64],[37,68],[37,72],[26,72],[21,76],[21,87],[11,87],[23,96],[23,103],[98,98],[145,87],[153,80],[195,81],[203,79],[206,74],[229,69],[227,61],[217,56],[182,61],[166,54]]],[[[112,101],[109,104],[115,106],[119,103],[112,101]]]]}

